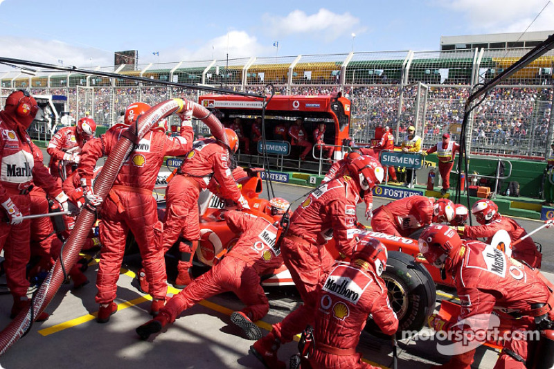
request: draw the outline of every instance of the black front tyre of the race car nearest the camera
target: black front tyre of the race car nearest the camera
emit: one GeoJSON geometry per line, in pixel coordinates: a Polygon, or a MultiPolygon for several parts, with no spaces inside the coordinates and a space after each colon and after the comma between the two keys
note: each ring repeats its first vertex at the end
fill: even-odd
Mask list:
{"type": "MultiPolygon", "coordinates": [[[[388,300],[398,318],[397,338],[406,338],[418,332],[434,312],[436,287],[431,274],[411,255],[390,251],[386,270],[381,278],[388,289],[388,300]]],[[[366,332],[386,338],[372,318],[368,318],[366,332]]]]}

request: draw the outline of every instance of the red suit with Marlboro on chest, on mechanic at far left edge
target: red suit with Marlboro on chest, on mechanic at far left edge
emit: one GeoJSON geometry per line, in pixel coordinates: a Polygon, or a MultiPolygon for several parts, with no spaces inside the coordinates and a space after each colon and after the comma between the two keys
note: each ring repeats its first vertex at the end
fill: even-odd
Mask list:
{"type": "MultiPolygon", "coordinates": [[[[0,203],[12,199],[23,216],[30,215],[31,186],[44,188],[51,197],[62,192],[39,156],[33,155],[36,149],[31,145],[27,132],[13,123],[6,111],[0,111],[0,203]]],[[[3,209],[0,211],[4,216],[3,209]]],[[[0,222],[0,250],[4,250],[6,279],[16,305],[27,295],[29,286],[26,278],[29,242],[30,220],[19,224],[0,222]]]]}

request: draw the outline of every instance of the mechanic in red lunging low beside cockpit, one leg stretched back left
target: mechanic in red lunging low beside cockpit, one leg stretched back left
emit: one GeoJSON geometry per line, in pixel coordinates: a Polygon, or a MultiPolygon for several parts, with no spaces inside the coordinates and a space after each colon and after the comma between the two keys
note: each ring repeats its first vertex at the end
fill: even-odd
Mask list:
{"type": "MultiPolygon", "coordinates": [[[[282,217],[289,207],[285,199],[276,198],[270,202],[271,213],[276,217],[282,217]]],[[[240,312],[233,312],[231,321],[244,330],[248,339],[262,337],[262,331],[253,322],[269,312],[260,276],[271,273],[283,264],[276,245],[278,228],[263,217],[240,211],[228,211],[223,217],[229,229],[240,234],[235,246],[221,262],[173,296],[154,320],[136,328],[141,339],[148,339],[150,334],[160,332],[162,327],[173,323],[181,312],[200,300],[226,291],[233,291],[247,305],[240,312]]]]}

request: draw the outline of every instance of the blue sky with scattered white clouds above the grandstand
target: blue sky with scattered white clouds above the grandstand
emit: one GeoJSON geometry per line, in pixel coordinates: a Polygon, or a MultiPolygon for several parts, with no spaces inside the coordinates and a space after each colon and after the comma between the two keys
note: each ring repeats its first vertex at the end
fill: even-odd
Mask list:
{"type": "Polygon", "coordinates": [[[441,35],[522,33],[544,6],[529,30],[552,30],[545,0],[0,0],[0,55],[89,67],[131,49],[139,63],[433,51],[441,35]]]}

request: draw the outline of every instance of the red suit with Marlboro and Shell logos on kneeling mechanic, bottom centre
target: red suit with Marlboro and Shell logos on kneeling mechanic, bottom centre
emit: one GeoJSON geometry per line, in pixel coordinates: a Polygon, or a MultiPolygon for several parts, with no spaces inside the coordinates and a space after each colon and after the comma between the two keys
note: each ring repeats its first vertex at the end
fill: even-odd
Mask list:
{"type": "Polygon", "coordinates": [[[362,362],[356,352],[360,332],[369,314],[384,334],[396,332],[398,319],[373,267],[337,264],[321,287],[317,307],[312,368],[376,368],[362,362]]]}

